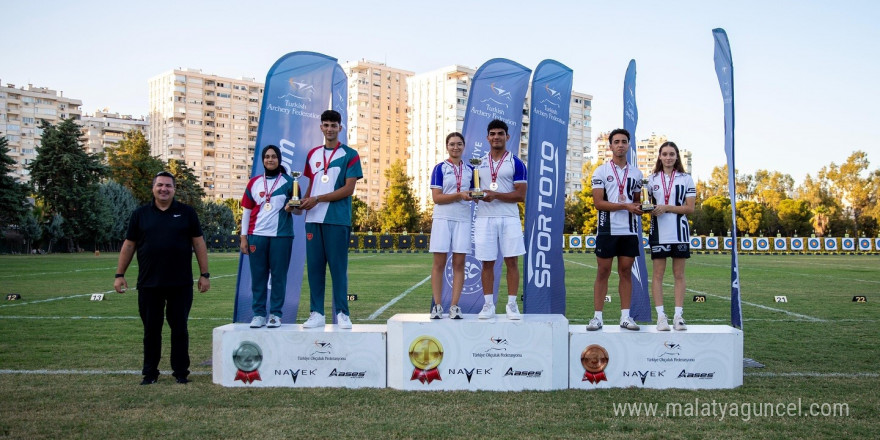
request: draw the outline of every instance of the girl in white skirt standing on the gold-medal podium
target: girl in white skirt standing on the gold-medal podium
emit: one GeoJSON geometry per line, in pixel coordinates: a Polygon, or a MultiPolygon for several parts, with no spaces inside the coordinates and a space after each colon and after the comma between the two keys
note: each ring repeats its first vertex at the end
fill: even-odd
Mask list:
{"type": "Polygon", "coordinates": [[[464,136],[461,133],[446,136],[446,151],[449,158],[437,164],[431,173],[431,196],[434,200],[430,245],[430,251],[434,253],[431,268],[434,307],[431,309],[431,318],[443,317],[443,272],[446,269],[446,254],[452,252],[449,317],[462,319],[458,299],[464,285],[465,257],[471,248],[471,198],[468,194],[474,171],[473,167],[461,160],[464,153],[464,136]]]}

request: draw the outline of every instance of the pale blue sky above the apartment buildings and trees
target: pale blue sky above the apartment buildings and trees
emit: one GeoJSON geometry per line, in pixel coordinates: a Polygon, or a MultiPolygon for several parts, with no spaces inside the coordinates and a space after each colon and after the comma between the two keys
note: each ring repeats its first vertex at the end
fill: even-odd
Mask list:
{"type": "Polygon", "coordinates": [[[262,82],[294,51],[414,73],[499,57],[534,69],[549,58],[593,96],[595,141],[623,124],[623,77],[635,59],[635,138],[662,134],[690,150],[697,179],[726,164],[713,61],[720,27],[733,58],[740,172],[801,182],[856,150],[880,168],[875,1],[3,3],[0,81],[62,90],[89,114],[147,115],[148,80],[175,68],[262,82]]]}

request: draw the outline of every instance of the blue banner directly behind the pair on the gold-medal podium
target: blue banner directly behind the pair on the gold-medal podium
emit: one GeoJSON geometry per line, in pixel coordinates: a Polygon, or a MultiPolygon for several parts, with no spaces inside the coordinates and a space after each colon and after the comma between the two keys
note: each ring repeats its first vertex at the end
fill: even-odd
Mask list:
{"type": "MultiPolygon", "coordinates": [[[[486,61],[471,80],[468,94],[467,110],[464,116],[464,153],[462,159],[481,158],[489,152],[486,142],[486,127],[493,119],[500,119],[508,126],[507,151],[519,155],[519,140],[522,135],[523,104],[529,88],[532,71],[527,67],[504,58],[493,58],[486,61]]],[[[467,256],[465,267],[482,267],[482,263],[472,255],[467,256]]],[[[495,262],[495,286],[498,291],[501,282],[501,266],[503,259],[495,262]]],[[[446,271],[451,273],[451,259],[447,259],[446,271]]],[[[483,287],[479,272],[472,280],[465,274],[467,289],[462,291],[458,305],[462,313],[479,313],[483,307],[483,287]],[[472,283],[472,281],[474,281],[472,283]]],[[[497,296],[497,295],[496,295],[497,296]]],[[[495,298],[497,302],[497,297],[495,298]]],[[[433,301],[433,300],[432,300],[433,301]]],[[[451,282],[443,283],[443,308],[448,308],[452,301],[451,282]]]]}

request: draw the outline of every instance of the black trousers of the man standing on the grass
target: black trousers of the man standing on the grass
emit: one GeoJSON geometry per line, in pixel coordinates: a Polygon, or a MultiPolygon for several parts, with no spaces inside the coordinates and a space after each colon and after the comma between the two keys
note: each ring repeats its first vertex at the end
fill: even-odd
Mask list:
{"type": "Polygon", "coordinates": [[[138,311],[144,323],[145,377],[159,376],[162,357],[162,321],[171,329],[171,369],[174,377],[189,375],[189,331],[193,286],[143,287],[138,289],[138,311]]]}

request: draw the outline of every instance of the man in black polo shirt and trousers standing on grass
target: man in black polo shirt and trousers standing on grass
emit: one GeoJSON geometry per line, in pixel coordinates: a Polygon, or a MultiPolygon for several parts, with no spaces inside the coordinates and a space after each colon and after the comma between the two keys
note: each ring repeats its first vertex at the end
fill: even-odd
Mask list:
{"type": "Polygon", "coordinates": [[[195,210],[174,200],[174,176],[161,172],[153,178],[153,201],[131,214],[128,233],[113,287],[128,288],[125,270],[137,251],[138,310],[144,323],[144,380],[156,383],[162,355],[162,321],[167,314],[171,328],[171,369],[177,383],[189,379],[189,332],[187,320],[192,307],[192,252],[199,262],[199,292],[211,288],[208,278],[208,249],[195,210]],[[167,306],[167,309],[166,309],[167,306]]]}

